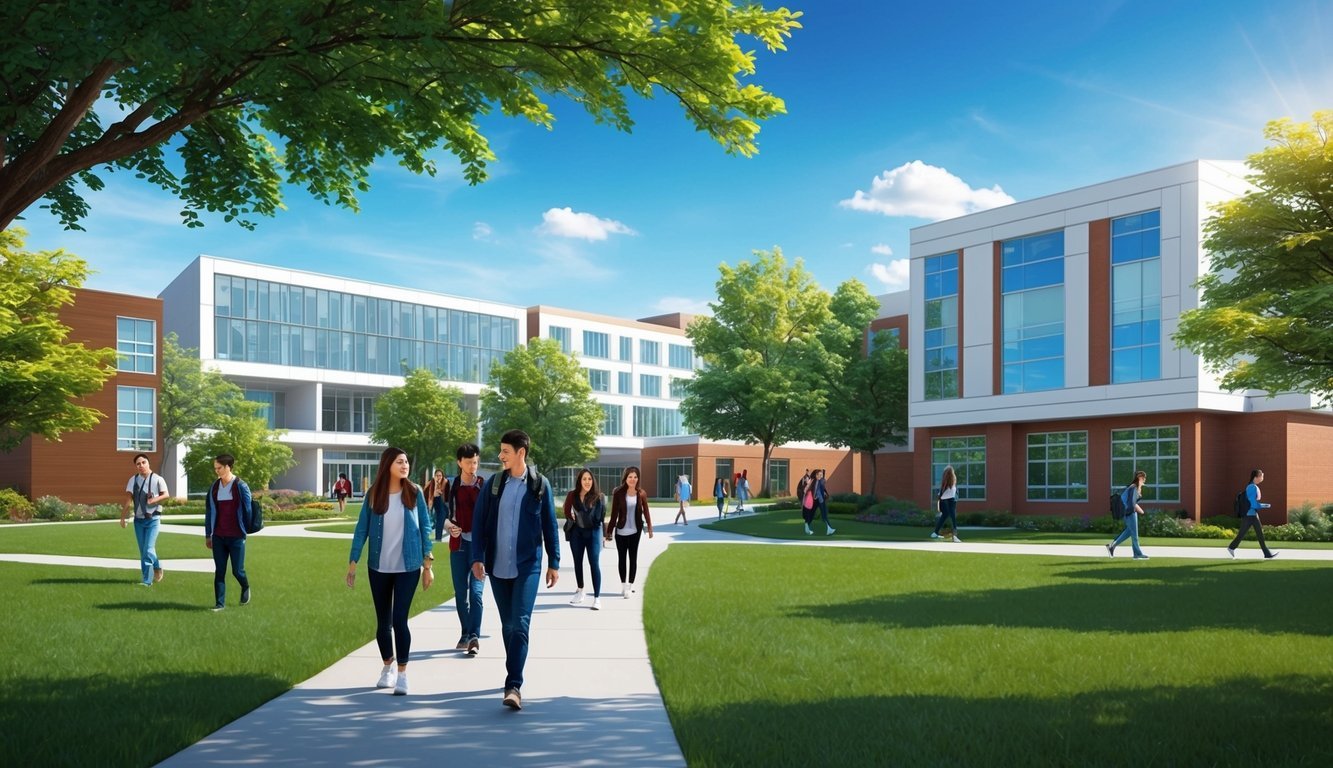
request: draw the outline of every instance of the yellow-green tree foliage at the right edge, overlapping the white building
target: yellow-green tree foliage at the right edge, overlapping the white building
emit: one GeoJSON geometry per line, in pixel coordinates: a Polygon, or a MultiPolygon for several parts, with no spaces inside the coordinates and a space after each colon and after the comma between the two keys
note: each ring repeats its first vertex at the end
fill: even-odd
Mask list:
{"type": "Polygon", "coordinates": [[[1310,392],[1333,404],[1333,111],[1274,120],[1253,189],[1204,225],[1209,272],[1174,339],[1226,389],[1310,392]]]}

